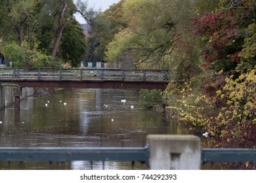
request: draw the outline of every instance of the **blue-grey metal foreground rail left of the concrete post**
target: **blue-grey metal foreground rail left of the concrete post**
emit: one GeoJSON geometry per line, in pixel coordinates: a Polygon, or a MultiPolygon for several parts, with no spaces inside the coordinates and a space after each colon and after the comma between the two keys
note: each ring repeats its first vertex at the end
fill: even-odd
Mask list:
{"type": "Polygon", "coordinates": [[[49,165],[53,165],[53,162],[61,162],[63,165],[66,161],[89,161],[91,169],[93,169],[93,161],[102,161],[102,169],[105,161],[131,161],[131,169],[134,169],[137,161],[148,164],[148,156],[147,146],[144,148],[0,147],[0,161],[8,161],[7,169],[11,169],[12,161],[20,161],[21,165],[25,161],[49,161],[49,165]]]}

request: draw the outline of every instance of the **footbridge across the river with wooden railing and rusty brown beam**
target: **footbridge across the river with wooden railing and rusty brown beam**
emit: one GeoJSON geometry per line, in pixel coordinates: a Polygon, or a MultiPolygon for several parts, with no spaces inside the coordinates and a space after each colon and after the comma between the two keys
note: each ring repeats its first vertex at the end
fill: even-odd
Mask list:
{"type": "Polygon", "coordinates": [[[168,70],[0,68],[0,84],[20,88],[161,89],[169,83],[168,70]]]}

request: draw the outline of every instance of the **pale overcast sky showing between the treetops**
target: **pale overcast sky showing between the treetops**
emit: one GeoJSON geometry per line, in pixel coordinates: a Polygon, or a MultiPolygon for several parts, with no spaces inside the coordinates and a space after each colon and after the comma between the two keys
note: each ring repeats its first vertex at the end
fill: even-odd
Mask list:
{"type": "MultiPolygon", "coordinates": [[[[89,7],[93,7],[95,10],[100,9],[102,12],[107,8],[109,8],[111,5],[113,5],[114,3],[119,2],[119,0],[87,0],[87,1],[89,4],[89,7]]],[[[75,18],[80,24],[85,23],[85,20],[83,20],[83,18],[78,14],[75,15],[75,18]]]]}

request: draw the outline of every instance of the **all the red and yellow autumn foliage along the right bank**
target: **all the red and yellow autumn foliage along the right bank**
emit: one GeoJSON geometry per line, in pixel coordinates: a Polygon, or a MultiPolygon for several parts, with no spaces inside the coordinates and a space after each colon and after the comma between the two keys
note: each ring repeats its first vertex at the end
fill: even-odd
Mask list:
{"type": "Polygon", "coordinates": [[[253,6],[249,0],[236,4],[222,1],[215,12],[194,17],[193,34],[200,39],[203,72],[181,90],[174,82],[169,84],[170,97],[175,100],[171,111],[176,111],[179,120],[195,133],[208,131],[210,137],[219,140],[217,147],[256,148],[253,6]]]}

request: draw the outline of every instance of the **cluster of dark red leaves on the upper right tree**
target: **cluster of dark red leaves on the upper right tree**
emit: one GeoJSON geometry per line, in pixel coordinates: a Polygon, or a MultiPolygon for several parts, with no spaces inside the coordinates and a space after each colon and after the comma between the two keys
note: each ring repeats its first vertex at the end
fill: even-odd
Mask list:
{"type": "Polygon", "coordinates": [[[202,54],[205,63],[202,67],[209,67],[213,62],[223,65],[225,61],[240,60],[240,50],[237,49],[239,46],[236,46],[236,41],[240,39],[237,22],[232,12],[205,13],[200,19],[194,17],[194,33],[206,43],[202,54]]]}

